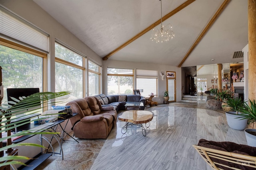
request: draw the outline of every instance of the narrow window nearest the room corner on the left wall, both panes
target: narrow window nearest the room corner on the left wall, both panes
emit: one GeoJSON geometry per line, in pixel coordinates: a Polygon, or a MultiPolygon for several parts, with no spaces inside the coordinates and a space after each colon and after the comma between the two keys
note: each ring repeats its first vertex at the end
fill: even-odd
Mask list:
{"type": "Polygon", "coordinates": [[[100,94],[100,69],[101,67],[92,61],[88,61],[88,93],[89,96],[100,94]]]}

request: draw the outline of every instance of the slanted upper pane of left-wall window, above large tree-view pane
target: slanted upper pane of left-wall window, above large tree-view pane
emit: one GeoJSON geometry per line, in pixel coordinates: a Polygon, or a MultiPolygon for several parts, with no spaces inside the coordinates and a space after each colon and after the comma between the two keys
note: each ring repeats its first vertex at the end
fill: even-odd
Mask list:
{"type": "Polygon", "coordinates": [[[55,43],[55,57],[79,66],[83,65],[83,57],[57,43],[55,43]]]}

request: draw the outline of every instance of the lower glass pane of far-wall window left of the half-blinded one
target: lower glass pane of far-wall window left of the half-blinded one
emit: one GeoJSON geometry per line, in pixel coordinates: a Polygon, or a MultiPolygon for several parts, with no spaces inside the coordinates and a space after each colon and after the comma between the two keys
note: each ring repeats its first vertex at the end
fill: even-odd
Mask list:
{"type": "Polygon", "coordinates": [[[133,77],[108,76],[108,95],[133,94],[133,77]]]}

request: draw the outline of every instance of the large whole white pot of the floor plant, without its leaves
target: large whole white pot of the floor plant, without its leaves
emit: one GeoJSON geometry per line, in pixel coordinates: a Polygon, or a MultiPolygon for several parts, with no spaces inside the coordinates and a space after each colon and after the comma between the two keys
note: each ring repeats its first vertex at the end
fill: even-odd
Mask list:
{"type": "Polygon", "coordinates": [[[227,111],[226,112],[227,122],[229,127],[236,130],[244,130],[247,126],[248,119],[239,119],[237,117],[241,117],[241,115],[236,115],[235,111],[227,111]]]}

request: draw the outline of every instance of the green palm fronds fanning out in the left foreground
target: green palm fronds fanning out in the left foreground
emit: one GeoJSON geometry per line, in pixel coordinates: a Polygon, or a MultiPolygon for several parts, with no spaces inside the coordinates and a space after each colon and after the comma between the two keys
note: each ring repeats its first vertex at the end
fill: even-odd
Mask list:
{"type": "MultiPolygon", "coordinates": [[[[55,102],[55,99],[58,97],[65,96],[67,94],[70,94],[69,92],[40,92],[33,94],[28,97],[20,97],[19,99],[12,98],[16,102],[12,102],[14,106],[10,106],[8,104],[2,104],[0,106],[0,121],[2,123],[1,126],[1,134],[4,131],[9,131],[13,129],[14,127],[19,127],[21,125],[24,125],[25,123],[28,123],[27,121],[24,123],[23,120],[17,121],[16,124],[11,123],[12,120],[21,118],[24,113],[27,112],[27,109],[31,109],[31,113],[33,114],[38,111],[36,111],[36,106],[38,102],[41,103],[41,108],[45,107],[48,108],[49,106],[55,105],[60,102],[55,102]],[[50,102],[51,101],[51,102],[50,102]],[[12,114],[20,114],[21,116],[19,117],[12,117],[12,114]]],[[[39,120],[39,119],[37,119],[39,120]]],[[[34,121],[34,120],[32,120],[34,121]]],[[[9,133],[8,132],[8,133],[9,133]]],[[[13,135],[8,135],[7,137],[1,137],[0,138],[0,143],[2,141],[7,140],[7,146],[6,147],[0,147],[0,152],[3,152],[4,150],[12,150],[12,148],[16,146],[36,146],[36,147],[43,147],[38,144],[33,144],[33,143],[17,143],[17,144],[12,144],[11,143],[11,138],[12,137],[18,137],[22,135],[31,135],[31,134],[53,134],[54,132],[30,132],[28,131],[22,131],[13,135]]],[[[19,160],[28,160],[30,158],[26,156],[2,156],[0,157],[0,167],[5,166],[5,165],[11,165],[11,164],[22,164],[25,165],[23,162],[20,162],[19,160]],[[9,161],[8,161],[9,160],[9,161]],[[8,161],[8,162],[6,162],[8,161]]]]}

